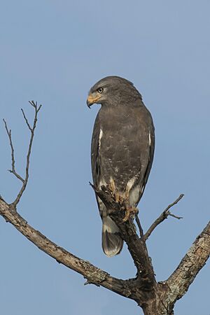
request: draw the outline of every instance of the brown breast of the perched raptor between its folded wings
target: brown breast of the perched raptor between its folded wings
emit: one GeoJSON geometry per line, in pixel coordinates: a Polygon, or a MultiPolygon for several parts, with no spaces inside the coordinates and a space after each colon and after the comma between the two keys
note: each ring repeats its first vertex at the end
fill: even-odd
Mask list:
{"type": "Polygon", "coordinates": [[[124,191],[127,183],[134,183],[140,165],[138,120],[130,113],[106,111],[100,117],[100,172],[106,183],[114,181],[124,191]]]}

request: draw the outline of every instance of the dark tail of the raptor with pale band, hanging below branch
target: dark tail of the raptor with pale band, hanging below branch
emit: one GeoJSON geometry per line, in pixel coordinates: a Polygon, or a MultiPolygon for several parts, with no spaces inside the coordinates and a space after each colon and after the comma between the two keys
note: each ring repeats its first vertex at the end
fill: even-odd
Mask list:
{"type": "Polygon", "coordinates": [[[117,255],[123,248],[123,239],[120,237],[120,231],[110,216],[103,216],[102,224],[103,251],[109,257],[117,255]]]}

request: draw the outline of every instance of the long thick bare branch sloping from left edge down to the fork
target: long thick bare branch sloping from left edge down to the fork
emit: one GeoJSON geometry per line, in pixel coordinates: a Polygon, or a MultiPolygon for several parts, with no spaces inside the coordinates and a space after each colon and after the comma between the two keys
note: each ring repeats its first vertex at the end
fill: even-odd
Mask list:
{"type": "Polygon", "coordinates": [[[108,288],[120,295],[130,297],[130,283],[135,281],[135,279],[127,281],[116,279],[109,276],[109,274],[104,272],[102,269],[94,267],[94,265],[90,264],[90,262],[69,253],[64,248],[50,241],[50,239],[41,234],[41,232],[32,228],[27,221],[25,221],[25,219],[13,209],[13,207],[4,202],[1,198],[0,215],[5,218],[6,222],[11,223],[22,235],[27,237],[29,241],[41,249],[41,251],[44,251],[62,265],[65,265],[79,274],[82,274],[85,279],[87,279],[88,283],[101,285],[104,286],[104,288],[108,288]]]}

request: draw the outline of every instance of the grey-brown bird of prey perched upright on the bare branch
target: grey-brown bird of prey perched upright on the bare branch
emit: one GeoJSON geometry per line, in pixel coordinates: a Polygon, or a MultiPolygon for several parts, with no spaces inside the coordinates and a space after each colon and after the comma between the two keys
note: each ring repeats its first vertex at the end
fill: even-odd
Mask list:
{"type": "MultiPolygon", "coordinates": [[[[109,186],[134,211],[144,193],[155,148],[155,128],[139,91],[125,78],[107,76],[95,83],[87,106],[102,104],[94,122],[91,164],[94,186],[109,186]]],[[[102,248],[111,257],[123,239],[109,210],[98,196],[102,218],[102,248]]],[[[126,218],[127,219],[127,218],[126,218]]]]}

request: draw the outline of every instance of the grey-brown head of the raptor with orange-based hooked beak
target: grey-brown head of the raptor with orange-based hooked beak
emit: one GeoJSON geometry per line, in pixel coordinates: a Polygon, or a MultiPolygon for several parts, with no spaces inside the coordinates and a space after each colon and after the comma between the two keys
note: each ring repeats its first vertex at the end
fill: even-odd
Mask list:
{"type": "Polygon", "coordinates": [[[95,83],[88,94],[87,106],[92,104],[118,104],[122,99],[129,102],[132,98],[137,99],[141,94],[133,83],[120,76],[106,76],[95,83]]]}

